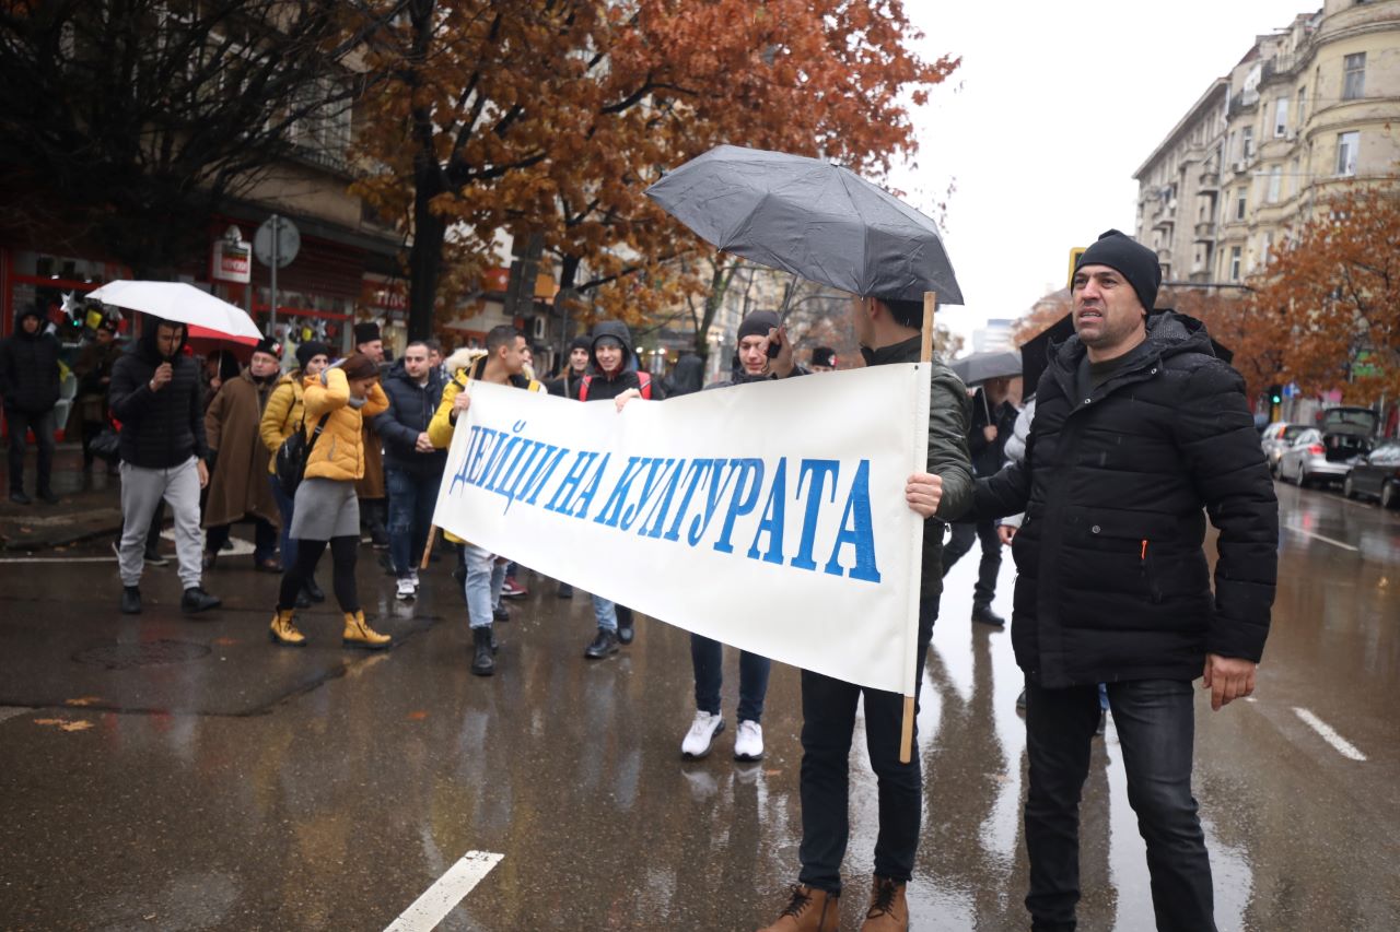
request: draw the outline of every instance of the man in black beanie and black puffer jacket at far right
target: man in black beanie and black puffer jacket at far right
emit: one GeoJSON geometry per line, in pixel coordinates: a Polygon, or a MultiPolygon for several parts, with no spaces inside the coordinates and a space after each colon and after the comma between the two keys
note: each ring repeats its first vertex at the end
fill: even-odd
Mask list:
{"type": "Polygon", "coordinates": [[[1033,929],[1072,929],[1078,805],[1106,683],[1158,929],[1215,928],[1191,796],[1194,707],[1249,696],[1274,600],[1278,502],[1245,383],[1205,327],[1148,316],[1156,256],[1116,230],[1079,257],[1077,336],[1051,347],[1022,463],[977,481],[979,518],[1026,512],[1012,642],[1026,673],[1033,929]],[[1219,529],[1215,591],[1203,542],[1219,529]]]}

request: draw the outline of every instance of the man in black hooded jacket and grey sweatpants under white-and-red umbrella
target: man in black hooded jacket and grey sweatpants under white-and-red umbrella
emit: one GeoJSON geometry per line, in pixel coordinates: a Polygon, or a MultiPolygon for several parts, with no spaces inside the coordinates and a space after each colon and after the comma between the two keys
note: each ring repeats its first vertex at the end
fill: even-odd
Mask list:
{"type": "Polygon", "coordinates": [[[209,446],[199,364],[185,354],[183,323],[147,316],[141,336],[112,367],[108,404],[122,424],[122,612],[141,610],[146,536],[155,507],[165,501],[175,521],[175,556],[189,614],[221,605],[204,592],[199,490],[209,484],[209,446]]]}

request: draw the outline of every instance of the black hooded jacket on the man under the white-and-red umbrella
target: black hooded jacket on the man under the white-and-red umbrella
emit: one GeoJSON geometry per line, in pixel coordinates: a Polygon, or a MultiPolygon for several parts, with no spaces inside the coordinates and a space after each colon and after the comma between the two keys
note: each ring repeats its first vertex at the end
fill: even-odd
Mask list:
{"type": "Polygon", "coordinates": [[[122,424],[122,462],[144,469],[171,469],[190,456],[204,459],[209,446],[199,364],[185,355],[183,339],[175,358],[165,360],[155,346],[157,323],[148,318],[141,337],[112,367],[106,399],[112,417],[122,424]],[[172,367],[171,381],[153,392],[150,383],[155,368],[167,361],[172,367]]]}

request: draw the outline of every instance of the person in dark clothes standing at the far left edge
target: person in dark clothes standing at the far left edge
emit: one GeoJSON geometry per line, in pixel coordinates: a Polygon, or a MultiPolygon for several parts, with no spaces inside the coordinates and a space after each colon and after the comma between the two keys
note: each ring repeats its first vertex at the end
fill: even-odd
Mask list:
{"type": "Polygon", "coordinates": [[[0,340],[0,396],[10,430],[10,501],[28,505],[24,494],[24,453],[32,430],[39,448],[38,495],[50,505],[59,497],[50,486],[53,474],[53,407],[59,403],[59,340],[45,332],[42,305],[20,311],[14,333],[0,340]]]}

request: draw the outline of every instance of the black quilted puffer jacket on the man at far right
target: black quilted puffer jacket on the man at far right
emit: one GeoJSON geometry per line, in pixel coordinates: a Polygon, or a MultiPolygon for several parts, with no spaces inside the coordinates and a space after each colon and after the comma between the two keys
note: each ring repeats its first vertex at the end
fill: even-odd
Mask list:
{"type": "Polygon", "coordinates": [[[1077,336],[1050,348],[1025,460],[977,480],[977,516],[1026,512],[1012,544],[1016,662],[1057,689],[1193,680],[1207,652],[1259,661],[1278,502],[1243,379],[1198,320],[1170,311],[1081,390],[1085,353],[1077,336]]]}

